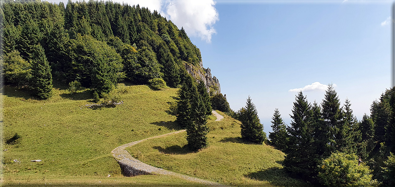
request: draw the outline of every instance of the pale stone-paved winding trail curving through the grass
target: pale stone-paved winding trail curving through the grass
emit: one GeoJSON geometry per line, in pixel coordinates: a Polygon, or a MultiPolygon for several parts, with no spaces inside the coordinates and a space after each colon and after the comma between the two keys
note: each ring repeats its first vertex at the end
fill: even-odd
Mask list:
{"type": "MultiPolygon", "coordinates": [[[[217,117],[217,119],[215,121],[220,121],[224,118],[222,115],[218,114],[214,110],[213,110],[213,114],[217,117]]],[[[130,147],[132,145],[138,144],[138,143],[143,142],[145,140],[150,140],[150,139],[154,139],[154,138],[161,138],[164,136],[168,136],[171,134],[177,134],[177,133],[184,132],[184,131],[185,130],[179,130],[176,132],[170,132],[170,133],[162,134],[159,136],[145,138],[143,140],[130,142],[128,144],[124,144],[124,145],[121,145],[121,146],[115,148],[113,151],[111,151],[111,153],[113,154],[113,157],[118,161],[120,166],[126,166],[129,168],[132,168],[132,170],[138,171],[139,174],[162,174],[162,175],[167,175],[167,176],[177,176],[177,177],[186,179],[188,181],[201,183],[201,184],[204,184],[207,186],[228,187],[228,185],[224,185],[224,184],[220,184],[220,183],[216,183],[216,182],[208,181],[208,180],[204,180],[204,179],[199,179],[199,178],[195,178],[195,177],[190,177],[190,176],[178,174],[175,172],[167,171],[167,170],[164,170],[161,168],[156,168],[154,166],[150,166],[148,164],[145,164],[145,163],[133,158],[132,155],[130,155],[130,153],[125,150],[126,147],[130,147]]]]}

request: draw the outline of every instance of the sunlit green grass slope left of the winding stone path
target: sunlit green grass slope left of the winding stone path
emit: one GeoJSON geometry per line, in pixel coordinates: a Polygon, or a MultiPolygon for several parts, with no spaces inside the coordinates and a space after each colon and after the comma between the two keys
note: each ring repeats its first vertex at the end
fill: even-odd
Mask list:
{"type": "Polygon", "coordinates": [[[84,181],[92,177],[109,180],[107,174],[128,182],[137,180],[150,184],[151,181],[151,185],[158,185],[160,181],[167,181],[167,185],[196,184],[170,177],[122,177],[111,150],[128,142],[178,130],[173,123],[175,116],[166,113],[177,89],[152,91],[145,85],[119,85],[117,90],[122,93],[124,104],[94,110],[84,106],[91,101],[89,90],[71,94],[57,88],[51,99],[41,101],[32,99],[26,90],[4,87],[2,150],[8,149],[3,152],[2,160],[4,184],[19,183],[16,179],[28,183],[34,178],[60,181],[67,178],[85,186],[84,181]],[[20,138],[12,142],[15,134],[20,138]],[[20,162],[13,162],[14,159],[20,162]],[[42,161],[30,162],[36,159],[42,161]]]}

